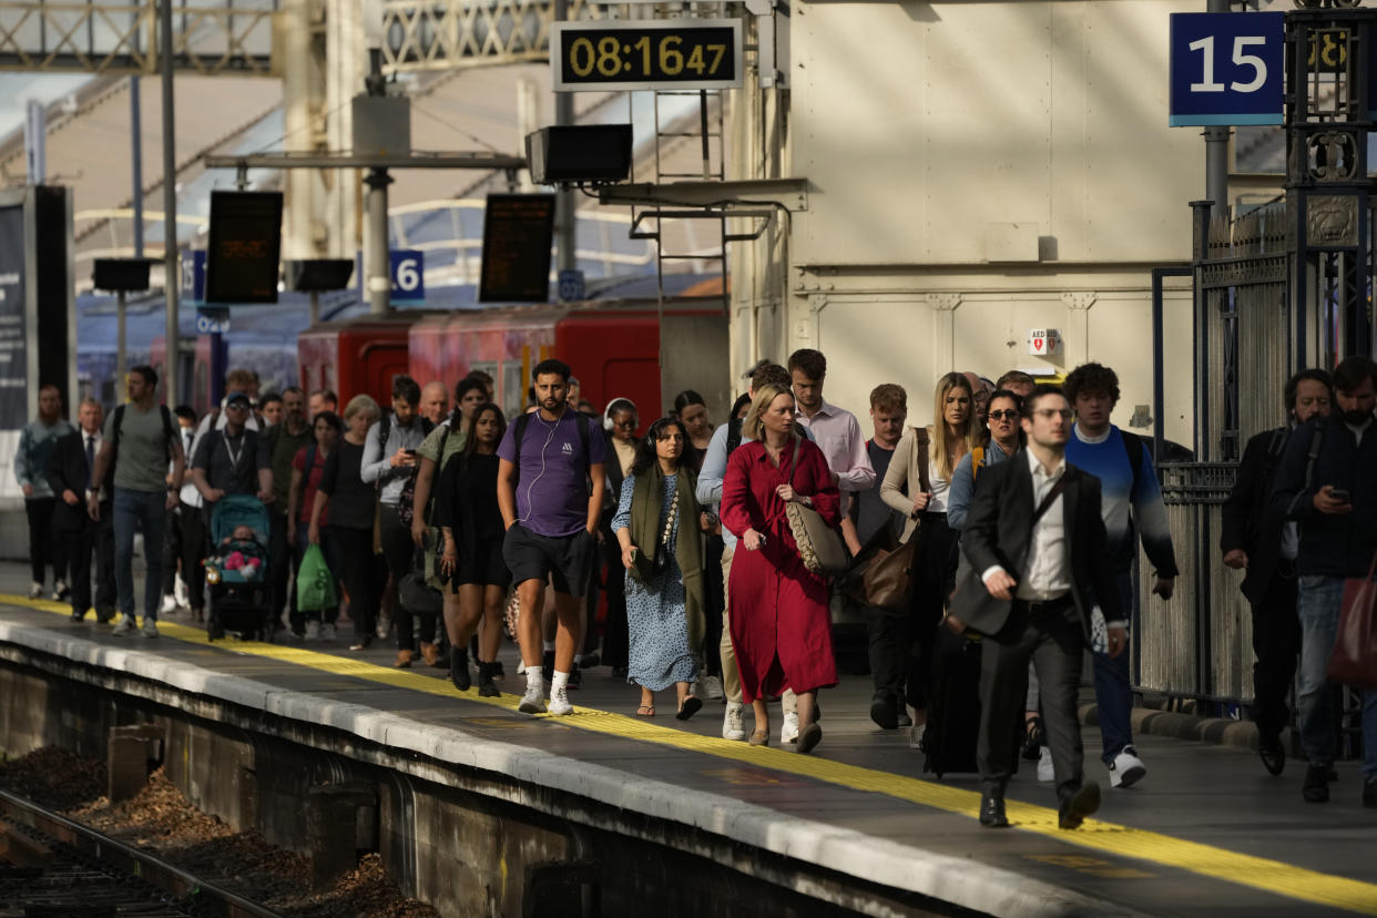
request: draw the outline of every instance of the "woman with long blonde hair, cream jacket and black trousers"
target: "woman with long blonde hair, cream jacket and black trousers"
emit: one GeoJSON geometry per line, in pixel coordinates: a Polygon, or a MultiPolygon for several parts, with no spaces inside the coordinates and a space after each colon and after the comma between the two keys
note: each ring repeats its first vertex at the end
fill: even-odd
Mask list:
{"type": "Polygon", "coordinates": [[[927,725],[932,643],[942,606],[956,578],[957,540],[946,520],[947,491],[961,458],[971,451],[976,424],[971,381],[963,373],[938,380],[931,428],[910,427],[899,439],[890,471],[880,484],[885,504],[907,516],[903,541],[913,548],[913,590],[909,612],[909,666],[905,692],[912,709],[909,746],[918,749],[927,725]]]}

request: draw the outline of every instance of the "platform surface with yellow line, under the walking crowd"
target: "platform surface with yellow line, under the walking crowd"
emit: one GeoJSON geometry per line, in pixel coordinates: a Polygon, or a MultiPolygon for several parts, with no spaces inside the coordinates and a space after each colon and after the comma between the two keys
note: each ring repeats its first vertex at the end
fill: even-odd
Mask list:
{"type": "MultiPolygon", "coordinates": [[[[490,740],[494,749],[538,750],[552,756],[543,760],[544,768],[576,775],[602,767],[622,775],[628,787],[679,789],[676,807],[690,819],[697,800],[739,801],[760,813],[763,837],[770,820],[786,830],[789,837],[778,842],[785,853],[837,870],[848,871],[848,859],[873,840],[885,857],[856,862],[855,868],[887,882],[874,873],[887,870],[880,862],[907,860],[913,870],[888,868],[896,888],[964,870],[957,885],[978,889],[972,881],[987,877],[989,903],[1001,903],[991,910],[1005,914],[1036,912],[1018,904],[1012,888],[993,896],[994,886],[1022,882],[1024,899],[1064,890],[1081,900],[1073,908],[1100,914],[1377,915],[1377,809],[1360,807],[1356,762],[1340,762],[1332,802],[1314,805],[1301,800],[1304,764],[1296,760],[1272,778],[1246,750],[1140,736],[1136,745],[1147,778],[1136,787],[1110,790],[1099,762],[1099,731],[1086,728],[1086,775],[1104,790],[1097,818],[1078,831],[1058,830],[1052,786],[1038,783],[1026,764],[1008,789],[1013,829],[996,831],[976,822],[975,775],[935,780],[923,773],[921,753],[907,747],[906,731],[887,732],[870,723],[868,677],[843,677],[839,688],[822,694],[823,740],[811,756],[801,756],[778,747],[778,706],[771,713],[775,745],[755,749],[722,739],[719,702],[705,702],[693,720],[677,721],[669,691],[660,695],[655,718],[635,717],[639,690],[606,668],[588,670],[584,687],[571,692],[573,716],[519,714],[523,680],[515,674],[509,644],[503,652],[508,673],[503,696],[481,699],[474,690],[457,692],[443,670],[420,662],[410,670],[391,668],[395,650],[383,643],[350,652],[343,634],[333,645],[211,644],[182,615],[161,622],[158,640],[114,637],[90,617],[70,622],[58,603],[15,595],[22,581],[19,566],[0,564],[0,643],[78,641],[73,647],[83,654],[90,648],[106,655],[123,648],[145,662],[165,659],[251,680],[284,698],[341,702],[423,729],[457,731],[450,735],[471,738],[476,746],[490,740]],[[839,841],[836,852],[828,848],[832,831],[847,841],[839,841]],[[936,871],[928,879],[925,859],[936,871]]],[[[980,901],[975,895],[965,904],[980,901]]]]}

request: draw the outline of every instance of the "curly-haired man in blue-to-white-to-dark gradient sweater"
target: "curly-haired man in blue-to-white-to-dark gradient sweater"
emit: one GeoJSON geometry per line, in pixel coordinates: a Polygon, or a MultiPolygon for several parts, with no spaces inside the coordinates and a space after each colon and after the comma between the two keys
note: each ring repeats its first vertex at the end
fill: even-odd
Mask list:
{"type": "MultiPolygon", "coordinates": [[[[1133,595],[1133,559],[1137,541],[1143,540],[1147,560],[1155,568],[1153,592],[1172,597],[1176,581],[1176,553],[1166,524],[1162,489],[1153,471],[1151,454],[1135,435],[1110,424],[1118,403],[1118,376],[1107,366],[1085,363],[1071,370],[1063,384],[1067,401],[1075,409],[1075,427],[1066,445],[1066,461],[1100,479],[1100,512],[1110,538],[1110,560],[1120,603],[1132,621],[1137,606],[1133,595]]],[[[1107,622],[1108,628],[1128,628],[1129,622],[1107,622]]],[[[1095,699],[1099,705],[1100,758],[1110,769],[1110,787],[1128,787],[1147,773],[1147,767],[1133,749],[1133,690],[1129,683],[1128,654],[1117,658],[1096,650],[1095,699]]]]}

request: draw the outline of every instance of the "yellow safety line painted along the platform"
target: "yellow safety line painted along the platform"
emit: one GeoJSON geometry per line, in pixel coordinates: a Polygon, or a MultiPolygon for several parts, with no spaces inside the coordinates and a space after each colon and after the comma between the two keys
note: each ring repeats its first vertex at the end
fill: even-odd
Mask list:
{"type": "MultiPolygon", "coordinates": [[[[6,593],[0,593],[0,603],[63,615],[70,615],[72,612],[70,606],[45,600],[30,600],[6,593]]],[[[168,637],[175,637],[190,644],[212,645],[231,652],[278,659],[337,676],[353,676],[372,683],[425,692],[428,695],[456,698],[471,703],[490,705],[509,712],[515,712],[521,701],[519,695],[512,694],[503,694],[498,698],[482,698],[476,692],[460,694],[448,680],[435,679],[434,676],[421,676],[409,670],[390,669],[377,666],[376,663],[351,661],[297,647],[257,641],[234,641],[233,644],[220,641],[212,644],[207,639],[204,629],[189,628],[175,622],[160,621],[158,629],[168,637]]],[[[131,640],[136,639],[131,637],[131,640]]],[[[811,778],[852,790],[884,794],[972,819],[979,818],[980,794],[949,784],[906,778],[903,775],[848,765],[814,756],[786,753],[779,749],[749,746],[742,742],[713,736],[700,736],[698,734],[671,727],[660,727],[644,718],[614,714],[592,707],[578,707],[573,716],[556,720],[559,724],[567,727],[657,743],[660,746],[672,746],[716,758],[770,768],[800,778],[811,778]]],[[[1173,838],[1131,826],[1118,826],[1097,819],[1088,819],[1077,831],[1063,831],[1056,824],[1058,812],[1049,807],[1037,807],[1009,800],[1007,808],[1009,820],[1018,829],[1047,835],[1060,842],[1118,857],[1137,857],[1165,867],[1176,867],[1209,877],[1210,879],[1241,884],[1301,901],[1343,908],[1362,915],[1377,915],[1377,884],[1323,874],[1279,860],[1254,857],[1252,855],[1173,838]]]]}

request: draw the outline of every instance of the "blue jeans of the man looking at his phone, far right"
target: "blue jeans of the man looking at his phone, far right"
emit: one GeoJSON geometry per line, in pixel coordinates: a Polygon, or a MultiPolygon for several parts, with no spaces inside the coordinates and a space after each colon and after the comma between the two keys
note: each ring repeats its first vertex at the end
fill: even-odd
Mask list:
{"type": "MultiPolygon", "coordinates": [[[[1334,761],[1334,706],[1325,669],[1334,652],[1338,612],[1344,601],[1343,577],[1301,577],[1300,672],[1296,707],[1300,709],[1300,747],[1312,765],[1334,761]]],[[[1377,776],[1377,692],[1363,691],[1363,775],[1377,776]]]]}

